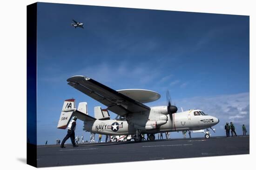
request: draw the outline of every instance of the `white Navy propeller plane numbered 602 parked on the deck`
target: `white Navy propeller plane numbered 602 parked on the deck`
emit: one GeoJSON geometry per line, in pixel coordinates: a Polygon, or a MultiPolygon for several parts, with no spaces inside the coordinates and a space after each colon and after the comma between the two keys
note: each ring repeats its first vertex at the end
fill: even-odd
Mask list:
{"type": "MultiPolygon", "coordinates": [[[[149,140],[155,140],[155,133],[202,130],[215,126],[219,120],[205,114],[202,110],[192,109],[177,112],[177,107],[148,107],[142,103],[158,100],[160,94],[144,89],[125,89],[115,91],[100,82],[85,77],[73,76],[67,84],[107,106],[107,109],[94,107],[94,117],[88,115],[87,102],[81,102],[76,109],[75,100],[64,101],[57,128],[66,129],[73,116],[84,122],[83,130],[103,135],[135,134],[135,142],[140,142],[141,134],[147,133],[149,140]],[[110,120],[108,111],[116,113],[110,120]],[[118,118],[119,117],[119,118],[118,118]]],[[[205,135],[209,138],[209,133],[205,135]]]]}

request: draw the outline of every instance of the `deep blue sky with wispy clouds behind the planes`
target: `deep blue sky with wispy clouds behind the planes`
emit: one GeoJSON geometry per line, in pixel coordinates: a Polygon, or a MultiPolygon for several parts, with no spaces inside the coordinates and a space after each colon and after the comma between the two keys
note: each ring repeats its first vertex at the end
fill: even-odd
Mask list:
{"type": "MultiPolygon", "coordinates": [[[[168,89],[183,110],[218,117],[214,135],[224,135],[227,121],[249,130],[249,16],[39,3],[37,45],[38,145],[66,135],[56,128],[64,100],[87,101],[92,116],[105,108],[67,85],[74,75],[160,93],[148,106],[166,105],[168,89]]],[[[76,134],[89,138],[82,122],[76,134]]]]}

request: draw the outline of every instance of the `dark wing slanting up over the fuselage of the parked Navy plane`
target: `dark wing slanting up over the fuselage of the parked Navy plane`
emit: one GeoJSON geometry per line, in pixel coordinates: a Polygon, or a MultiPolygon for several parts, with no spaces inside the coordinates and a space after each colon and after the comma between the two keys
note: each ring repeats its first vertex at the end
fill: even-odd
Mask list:
{"type": "Polygon", "coordinates": [[[96,101],[108,107],[108,110],[124,116],[127,113],[138,113],[150,110],[146,105],[135,101],[95,80],[85,76],[73,76],[67,79],[67,84],[87,94],[96,101]]]}

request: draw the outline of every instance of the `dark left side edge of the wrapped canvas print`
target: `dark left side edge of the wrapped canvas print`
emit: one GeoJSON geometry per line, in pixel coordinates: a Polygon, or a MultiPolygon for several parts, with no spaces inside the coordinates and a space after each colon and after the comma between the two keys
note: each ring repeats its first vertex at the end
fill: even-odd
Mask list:
{"type": "Polygon", "coordinates": [[[27,164],[37,167],[37,3],[27,6],[27,164]]]}

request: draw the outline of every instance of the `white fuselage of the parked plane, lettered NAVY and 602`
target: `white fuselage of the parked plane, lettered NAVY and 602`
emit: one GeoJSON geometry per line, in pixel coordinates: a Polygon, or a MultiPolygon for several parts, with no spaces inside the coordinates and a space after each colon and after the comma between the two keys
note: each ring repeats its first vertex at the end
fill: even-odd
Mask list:
{"type": "Polygon", "coordinates": [[[129,135],[135,134],[136,129],[139,129],[141,133],[154,134],[201,130],[219,122],[216,117],[200,114],[201,112],[188,110],[170,115],[166,106],[151,107],[149,112],[129,113],[126,118],[84,122],[84,130],[105,135],[129,135]]]}

